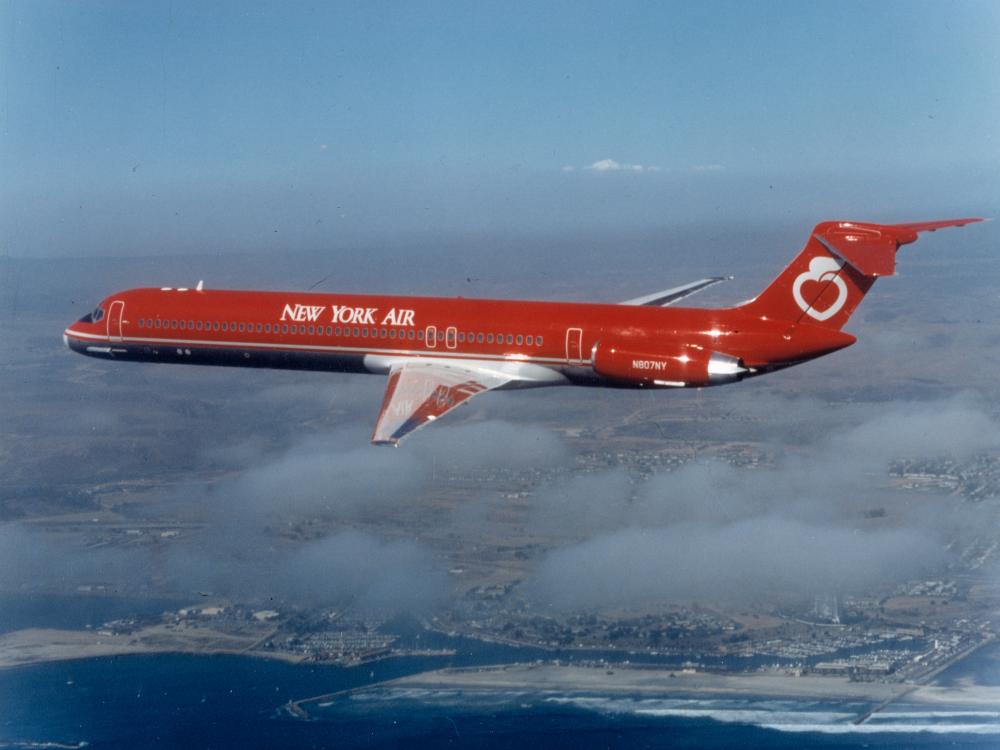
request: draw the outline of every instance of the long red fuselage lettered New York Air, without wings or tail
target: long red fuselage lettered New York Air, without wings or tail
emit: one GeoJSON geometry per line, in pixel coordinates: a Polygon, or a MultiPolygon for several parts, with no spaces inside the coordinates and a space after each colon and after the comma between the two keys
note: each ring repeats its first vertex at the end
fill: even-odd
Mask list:
{"type": "Polygon", "coordinates": [[[75,351],[125,360],[377,373],[401,357],[509,361],[563,376],[553,377],[553,384],[625,387],[703,386],[745,374],[709,377],[712,354],[735,358],[749,374],[854,341],[808,324],[789,333],[789,321],[753,317],[741,308],[132,289],[111,295],[98,310],[99,320],[92,313],[66,330],[75,351]],[[685,356],[688,361],[681,361],[685,356]]]}

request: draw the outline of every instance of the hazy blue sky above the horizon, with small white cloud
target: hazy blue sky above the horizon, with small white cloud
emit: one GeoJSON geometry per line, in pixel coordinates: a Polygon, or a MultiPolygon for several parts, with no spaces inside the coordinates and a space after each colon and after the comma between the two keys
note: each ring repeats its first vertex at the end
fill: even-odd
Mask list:
{"type": "Polygon", "coordinates": [[[19,257],[1000,195],[995,2],[5,2],[0,31],[0,252],[19,257]]]}

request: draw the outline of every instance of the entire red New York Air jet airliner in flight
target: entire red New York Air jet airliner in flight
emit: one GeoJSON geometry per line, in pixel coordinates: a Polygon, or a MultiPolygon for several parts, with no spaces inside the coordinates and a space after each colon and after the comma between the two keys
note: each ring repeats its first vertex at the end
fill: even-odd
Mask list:
{"type": "Polygon", "coordinates": [[[398,445],[486,391],[554,385],[703,388],[830,354],[912,224],[825,221],[757,297],[721,309],[673,307],[731,277],[619,304],[314,292],[129,289],[70,325],[73,351],[131,362],[388,375],[371,441],[398,445]]]}

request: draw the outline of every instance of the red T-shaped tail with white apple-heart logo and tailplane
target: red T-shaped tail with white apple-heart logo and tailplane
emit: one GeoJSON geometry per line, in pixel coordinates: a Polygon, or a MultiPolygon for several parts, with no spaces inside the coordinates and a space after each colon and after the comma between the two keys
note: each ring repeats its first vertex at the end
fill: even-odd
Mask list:
{"type": "Polygon", "coordinates": [[[817,224],[806,246],[759,296],[740,309],[760,318],[840,330],[879,276],[896,272],[896,251],[919,232],[961,227],[982,219],[915,224],[817,224]]]}

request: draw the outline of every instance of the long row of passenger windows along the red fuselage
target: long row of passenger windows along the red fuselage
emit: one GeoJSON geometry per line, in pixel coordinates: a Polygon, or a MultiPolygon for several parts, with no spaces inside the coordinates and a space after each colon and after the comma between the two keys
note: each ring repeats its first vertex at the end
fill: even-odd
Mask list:
{"type": "MultiPolygon", "coordinates": [[[[327,336],[354,336],[355,338],[389,338],[389,339],[409,339],[413,341],[424,341],[426,338],[428,342],[431,341],[446,341],[448,346],[454,346],[455,340],[457,339],[459,343],[465,343],[468,341],[470,344],[503,344],[504,342],[508,344],[517,344],[518,346],[541,346],[542,337],[533,335],[523,335],[523,334],[513,334],[513,333],[466,333],[465,331],[455,331],[455,329],[449,329],[447,332],[441,329],[437,329],[434,326],[429,326],[427,329],[427,334],[425,337],[423,329],[414,331],[412,328],[406,330],[399,330],[395,328],[360,328],[354,327],[350,328],[347,326],[304,326],[304,325],[288,325],[287,323],[282,323],[281,325],[274,323],[231,323],[229,321],[201,321],[201,320],[161,320],[157,318],[155,320],[151,318],[140,318],[139,319],[140,328],[169,328],[176,330],[189,330],[189,331],[238,331],[240,333],[284,333],[284,334],[302,334],[310,336],[322,336],[324,333],[327,336]]],[[[428,346],[434,346],[433,343],[428,343],[428,346]]]]}

